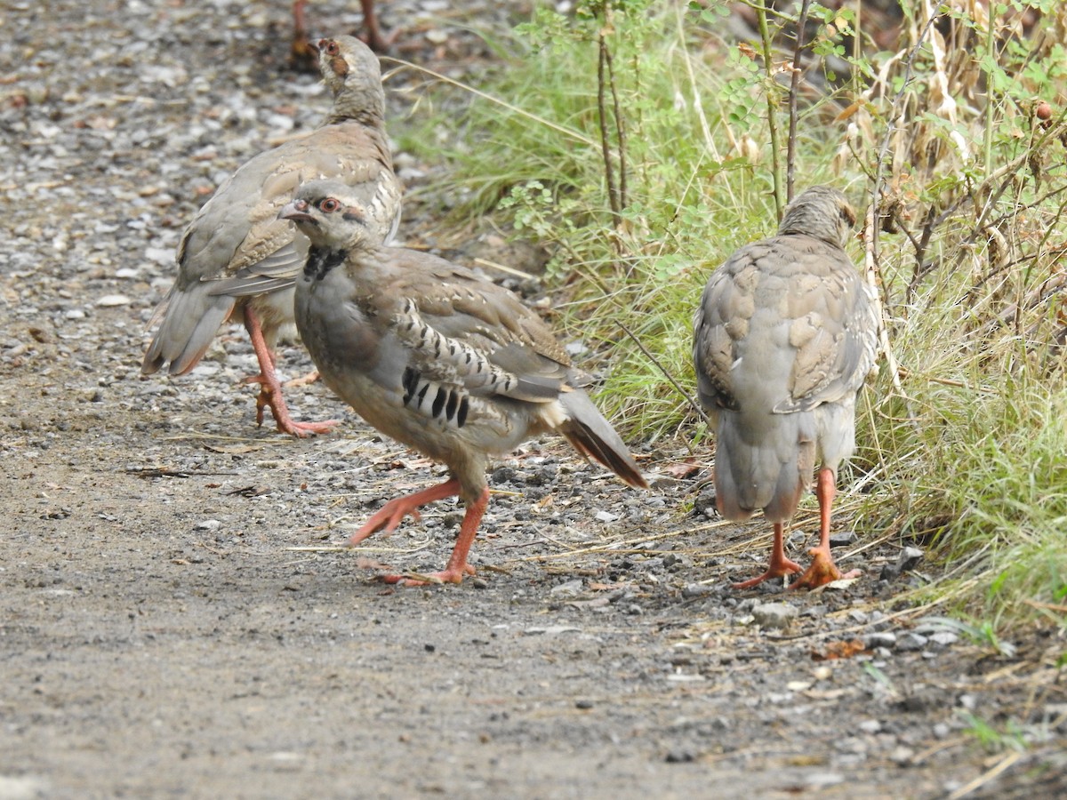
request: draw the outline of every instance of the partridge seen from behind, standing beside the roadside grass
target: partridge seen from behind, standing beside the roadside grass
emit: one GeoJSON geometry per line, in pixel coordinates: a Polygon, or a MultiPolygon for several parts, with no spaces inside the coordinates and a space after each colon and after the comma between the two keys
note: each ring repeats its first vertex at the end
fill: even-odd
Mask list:
{"type": "Polygon", "coordinates": [[[701,403],[715,427],[719,513],[774,524],[766,572],[747,589],[799,572],[785,556],[784,524],[816,461],[818,546],[794,588],[841,577],[830,556],[838,465],[856,447],[856,397],[874,369],[875,295],[845,255],[856,214],[844,194],[813,187],[791,203],[778,235],[748,244],[707,282],[694,320],[701,403]]]}

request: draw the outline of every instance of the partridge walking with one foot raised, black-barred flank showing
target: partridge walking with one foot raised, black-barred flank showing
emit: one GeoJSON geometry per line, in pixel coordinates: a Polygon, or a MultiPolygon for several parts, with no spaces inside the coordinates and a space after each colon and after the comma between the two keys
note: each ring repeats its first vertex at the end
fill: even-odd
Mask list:
{"type": "Polygon", "coordinates": [[[467,551],[489,502],[488,458],[543,432],[648,486],[585,393],[590,378],[513,293],[443,258],[381,246],[364,201],[343,183],[304,185],[280,217],[312,241],[297,281],[297,327],[322,380],[379,431],[449,469],[444,483],[388,501],[352,544],[458,495],[466,510],[452,555],[427,577],[461,582],[473,573],[467,551]]]}

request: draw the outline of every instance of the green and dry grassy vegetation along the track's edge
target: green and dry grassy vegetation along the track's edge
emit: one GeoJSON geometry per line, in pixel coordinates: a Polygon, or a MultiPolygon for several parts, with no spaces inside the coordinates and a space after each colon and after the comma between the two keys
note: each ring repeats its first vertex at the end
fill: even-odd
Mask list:
{"type": "Polygon", "coordinates": [[[710,272],[795,192],[845,190],[885,353],[842,518],[949,566],[913,602],[1007,639],[1062,628],[1067,9],[752,3],[738,39],[731,5],[540,7],[492,43],[507,67],[433,90],[478,94],[416,114],[404,146],[440,151],[429,131],[451,131],[450,224],[488,215],[542,243],[557,324],[606,365],[602,406],[699,460],[714,443],[687,397],[691,315],[710,272]]]}

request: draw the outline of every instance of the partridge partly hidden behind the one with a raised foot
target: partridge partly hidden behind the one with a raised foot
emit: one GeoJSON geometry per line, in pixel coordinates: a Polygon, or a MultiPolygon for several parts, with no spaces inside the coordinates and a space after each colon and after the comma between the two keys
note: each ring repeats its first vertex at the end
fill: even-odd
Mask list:
{"type": "Polygon", "coordinates": [[[307,239],[277,211],[302,182],[327,177],[361,199],[371,240],[392,238],[400,218],[378,58],[351,36],[321,39],[318,49],[333,108],[315,130],[246,162],[201,208],[178,244],[178,277],[153,317],[161,321],[142,364],[145,374],[168,362],[171,374],[185,374],[223,322],[243,321],[259,361],[260,373],[249,379],[261,385],[256,422],[269,405],[277,429],[296,436],[335,422],[291,419],[274,370],[273,348],[292,326],[293,284],[307,257],[307,239]]]}

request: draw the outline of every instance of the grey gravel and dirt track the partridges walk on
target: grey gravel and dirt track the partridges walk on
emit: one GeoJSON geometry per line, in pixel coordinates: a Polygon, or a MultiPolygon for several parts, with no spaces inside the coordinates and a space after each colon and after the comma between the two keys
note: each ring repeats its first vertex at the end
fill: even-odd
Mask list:
{"type": "MultiPolygon", "coordinates": [[[[381,13],[402,55],[475,80],[456,26],[522,7],[462,5],[381,13]]],[[[1006,656],[918,618],[895,598],[936,567],[895,574],[905,542],[856,531],[840,590],[737,592],[766,531],[703,513],[682,443],[636,443],[638,493],[546,439],[494,470],[476,579],[394,589],[381,565],[444,563],[455,503],[341,545],[440,468],[320,384],[291,406],[336,433],[255,428],[240,329],[190,375],[140,374],[181,227],[325,107],[285,68],[287,9],[0,12],[0,800],[1067,796],[1062,633],[1006,656]]],[[[420,90],[389,87],[396,131],[420,90]]],[[[401,238],[433,246],[412,209],[401,238]]]]}

